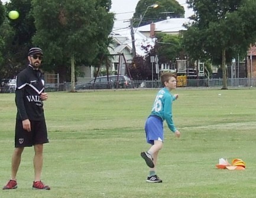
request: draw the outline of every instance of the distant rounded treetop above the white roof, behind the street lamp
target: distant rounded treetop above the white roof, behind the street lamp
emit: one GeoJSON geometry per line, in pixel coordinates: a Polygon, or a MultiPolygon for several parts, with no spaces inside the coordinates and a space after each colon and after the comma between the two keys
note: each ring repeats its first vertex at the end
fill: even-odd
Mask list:
{"type": "Polygon", "coordinates": [[[182,18],[184,17],[184,8],[176,0],[140,0],[135,8],[133,16],[134,27],[150,24],[151,22],[163,21],[166,17],[182,18]],[[147,9],[148,6],[158,4],[157,8],[147,9]],[[147,10],[147,12],[145,12],[147,10]]]}

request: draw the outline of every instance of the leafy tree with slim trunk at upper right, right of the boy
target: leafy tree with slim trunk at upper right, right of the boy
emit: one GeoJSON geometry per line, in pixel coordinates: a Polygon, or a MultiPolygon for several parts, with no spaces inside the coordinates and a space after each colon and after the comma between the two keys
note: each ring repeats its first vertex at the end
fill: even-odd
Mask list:
{"type": "Polygon", "coordinates": [[[210,58],[222,65],[223,85],[227,89],[226,63],[245,54],[256,41],[255,7],[252,0],[187,0],[194,20],[184,32],[183,44],[195,60],[210,58]]]}

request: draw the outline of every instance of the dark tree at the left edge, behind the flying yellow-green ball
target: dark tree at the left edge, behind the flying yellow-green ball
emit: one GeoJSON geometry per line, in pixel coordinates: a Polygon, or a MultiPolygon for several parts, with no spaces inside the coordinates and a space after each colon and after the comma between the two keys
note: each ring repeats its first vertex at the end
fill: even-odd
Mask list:
{"type": "Polygon", "coordinates": [[[27,65],[27,52],[31,47],[31,38],[35,33],[34,18],[30,15],[30,0],[12,0],[5,6],[4,24],[0,30],[2,62],[1,75],[12,78],[27,65]],[[15,20],[9,19],[8,12],[16,10],[20,17],[15,20]]]}

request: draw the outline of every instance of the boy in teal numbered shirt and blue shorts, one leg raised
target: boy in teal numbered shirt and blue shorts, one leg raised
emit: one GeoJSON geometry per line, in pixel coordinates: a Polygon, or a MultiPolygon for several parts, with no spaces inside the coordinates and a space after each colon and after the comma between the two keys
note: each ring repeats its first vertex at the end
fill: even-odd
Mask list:
{"type": "Polygon", "coordinates": [[[161,82],[164,85],[154,101],[150,116],[145,123],[145,135],[147,143],[151,144],[148,151],[142,152],[141,157],[150,167],[150,174],[146,182],[161,183],[157,174],[155,174],[158,152],[163,147],[164,130],[163,121],[166,120],[168,128],[170,128],[176,137],[180,137],[180,131],[176,129],[173,123],[172,104],[178,98],[178,94],[171,95],[170,91],[176,88],[176,78],[174,74],[165,72],[161,75],[161,82]]]}

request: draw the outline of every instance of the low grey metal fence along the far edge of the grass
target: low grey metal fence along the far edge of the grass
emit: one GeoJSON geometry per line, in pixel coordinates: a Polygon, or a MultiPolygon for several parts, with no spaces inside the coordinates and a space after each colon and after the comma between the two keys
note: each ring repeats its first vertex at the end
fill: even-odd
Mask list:
{"type": "MultiPolygon", "coordinates": [[[[223,80],[220,79],[187,79],[186,84],[180,84],[180,87],[205,87],[205,88],[214,88],[214,87],[222,87],[223,80]]],[[[132,81],[132,86],[123,87],[124,88],[161,88],[163,85],[160,81],[132,81]]],[[[256,78],[229,78],[228,79],[228,87],[256,87],[256,78]]],[[[45,91],[70,91],[71,83],[59,83],[59,84],[46,84],[45,91]]],[[[108,88],[105,84],[101,86],[97,86],[98,90],[103,90],[108,88]]],[[[82,90],[95,90],[94,86],[90,86],[88,88],[88,83],[76,83],[74,85],[74,89],[76,91],[82,90]]],[[[8,85],[4,85],[0,87],[0,93],[10,93],[8,85]]]]}

